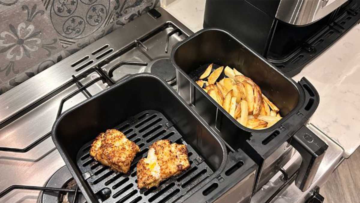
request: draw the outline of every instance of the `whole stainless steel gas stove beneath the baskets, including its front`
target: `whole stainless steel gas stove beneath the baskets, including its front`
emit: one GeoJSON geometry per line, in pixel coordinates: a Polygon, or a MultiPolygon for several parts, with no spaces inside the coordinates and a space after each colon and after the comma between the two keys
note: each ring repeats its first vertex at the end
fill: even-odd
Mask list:
{"type": "MultiPolygon", "coordinates": [[[[0,202],[85,202],[50,138],[51,128],[62,112],[131,74],[154,73],[177,88],[170,53],[193,32],[164,9],[157,11],[160,17],[144,14],[0,96],[0,202]]],[[[269,160],[276,171],[263,179],[253,203],[304,202],[313,196],[343,152],[326,135],[316,134],[330,153],[310,189],[301,192],[295,186],[301,156],[284,145],[269,160]]]]}

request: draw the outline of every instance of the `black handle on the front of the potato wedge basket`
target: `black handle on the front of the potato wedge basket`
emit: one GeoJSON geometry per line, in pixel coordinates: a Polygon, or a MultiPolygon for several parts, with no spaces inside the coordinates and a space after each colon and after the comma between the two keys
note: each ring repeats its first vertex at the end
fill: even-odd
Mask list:
{"type": "Polygon", "coordinates": [[[295,185],[301,191],[305,191],[310,187],[328,145],[306,126],[302,126],[294,134],[290,144],[302,156],[302,162],[295,179],[295,185]]]}

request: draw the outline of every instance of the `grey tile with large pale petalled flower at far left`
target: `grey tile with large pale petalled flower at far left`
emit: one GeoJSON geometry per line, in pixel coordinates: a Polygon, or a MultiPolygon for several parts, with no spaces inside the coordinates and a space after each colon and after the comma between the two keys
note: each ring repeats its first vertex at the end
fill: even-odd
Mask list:
{"type": "Polygon", "coordinates": [[[0,78],[4,82],[62,51],[50,19],[37,3],[27,1],[1,14],[0,78]]]}

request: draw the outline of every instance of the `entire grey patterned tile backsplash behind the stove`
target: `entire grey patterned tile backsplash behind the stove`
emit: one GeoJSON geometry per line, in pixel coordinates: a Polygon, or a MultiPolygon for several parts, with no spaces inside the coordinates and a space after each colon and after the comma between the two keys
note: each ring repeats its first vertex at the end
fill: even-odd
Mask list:
{"type": "Polygon", "coordinates": [[[159,0],[0,0],[0,95],[159,0]]]}

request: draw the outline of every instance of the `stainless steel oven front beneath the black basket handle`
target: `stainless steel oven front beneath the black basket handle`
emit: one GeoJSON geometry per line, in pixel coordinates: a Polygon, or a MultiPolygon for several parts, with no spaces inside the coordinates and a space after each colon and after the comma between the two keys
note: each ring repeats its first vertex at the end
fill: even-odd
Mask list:
{"type": "Polygon", "coordinates": [[[302,162],[300,154],[296,152],[281,167],[280,171],[252,196],[251,203],[322,202],[323,198],[319,194],[319,187],[328,180],[332,172],[341,164],[344,159],[344,150],[311,123],[307,125],[307,128],[329,146],[309,189],[302,192],[295,185],[296,174],[302,162]]]}

